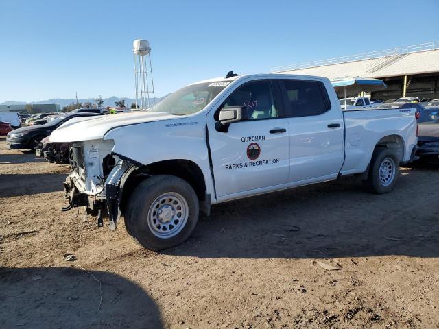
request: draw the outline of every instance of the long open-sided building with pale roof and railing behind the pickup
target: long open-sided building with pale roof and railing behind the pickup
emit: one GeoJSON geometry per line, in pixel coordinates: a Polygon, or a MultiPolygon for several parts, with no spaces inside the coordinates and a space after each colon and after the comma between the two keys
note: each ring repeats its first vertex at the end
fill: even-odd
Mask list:
{"type": "Polygon", "coordinates": [[[383,79],[388,88],[376,99],[439,98],[439,42],[399,47],[353,56],[306,62],[272,69],[273,73],[383,79]]]}

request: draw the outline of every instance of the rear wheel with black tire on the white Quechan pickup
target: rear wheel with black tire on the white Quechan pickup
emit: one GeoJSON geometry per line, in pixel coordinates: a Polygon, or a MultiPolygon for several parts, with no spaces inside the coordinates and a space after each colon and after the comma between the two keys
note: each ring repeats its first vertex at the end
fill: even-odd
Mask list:
{"type": "Polygon", "coordinates": [[[396,156],[396,152],[392,149],[385,147],[378,147],[375,149],[372,155],[372,160],[369,165],[369,172],[367,180],[364,180],[364,186],[368,191],[383,194],[393,191],[399,176],[399,158],[396,156]],[[392,169],[394,172],[388,172],[387,175],[380,176],[381,164],[393,162],[392,169]],[[385,181],[387,179],[387,182],[385,181]]]}

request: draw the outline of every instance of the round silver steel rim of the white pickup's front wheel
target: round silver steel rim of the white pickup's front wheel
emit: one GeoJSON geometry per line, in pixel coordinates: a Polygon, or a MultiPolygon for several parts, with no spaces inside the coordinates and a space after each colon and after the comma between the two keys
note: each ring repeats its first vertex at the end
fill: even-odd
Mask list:
{"type": "Polygon", "coordinates": [[[160,239],[170,239],[185,228],[189,217],[186,199],[176,192],[156,197],[148,210],[148,227],[160,239]]]}

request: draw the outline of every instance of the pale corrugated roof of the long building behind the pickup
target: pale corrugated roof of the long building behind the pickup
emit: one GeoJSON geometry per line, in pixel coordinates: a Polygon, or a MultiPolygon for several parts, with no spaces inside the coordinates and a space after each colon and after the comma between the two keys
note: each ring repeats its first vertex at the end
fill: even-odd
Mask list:
{"type": "Polygon", "coordinates": [[[399,75],[439,73],[439,49],[340,64],[277,71],[277,73],[319,75],[329,79],[346,76],[394,77],[399,75]]]}

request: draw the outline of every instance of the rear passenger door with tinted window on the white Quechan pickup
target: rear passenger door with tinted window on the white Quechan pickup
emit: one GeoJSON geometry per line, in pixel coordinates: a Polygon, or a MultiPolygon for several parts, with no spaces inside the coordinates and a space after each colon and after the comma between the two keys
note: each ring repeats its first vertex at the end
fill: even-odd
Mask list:
{"type": "Polygon", "coordinates": [[[281,80],[289,121],[289,182],[336,178],[344,161],[344,125],[339,106],[323,82],[281,80]]]}

